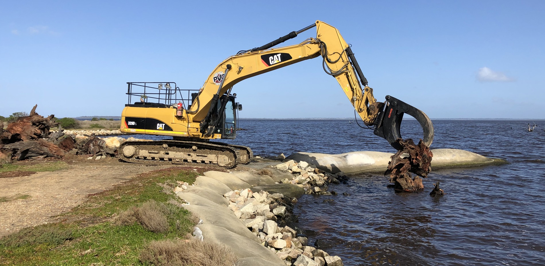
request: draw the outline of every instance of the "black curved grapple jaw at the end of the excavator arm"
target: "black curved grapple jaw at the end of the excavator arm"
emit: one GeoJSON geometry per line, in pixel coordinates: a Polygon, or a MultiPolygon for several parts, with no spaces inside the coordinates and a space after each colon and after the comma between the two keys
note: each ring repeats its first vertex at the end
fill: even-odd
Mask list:
{"type": "Polygon", "coordinates": [[[402,138],[400,128],[403,114],[413,116],[420,123],[424,132],[422,140],[429,147],[433,142],[432,120],[421,110],[390,95],[386,96],[384,106],[377,115],[374,134],[386,139],[396,150],[403,150],[396,141],[402,138]]]}

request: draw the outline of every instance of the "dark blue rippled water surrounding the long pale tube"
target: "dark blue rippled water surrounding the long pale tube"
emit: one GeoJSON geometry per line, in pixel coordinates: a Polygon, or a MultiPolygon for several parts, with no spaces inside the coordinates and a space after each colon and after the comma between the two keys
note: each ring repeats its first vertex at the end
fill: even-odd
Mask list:
{"type": "MultiPolygon", "coordinates": [[[[353,176],[331,185],[339,195],[303,196],[295,208],[299,224],[316,232],[310,242],[324,240],[324,250],[344,265],[544,265],[545,132],[525,131],[528,122],[434,120],[432,149],[463,149],[510,164],[432,171],[425,191],[414,194],[386,188],[385,176],[353,176]],[[447,194],[431,197],[437,181],[447,194]]],[[[231,142],[261,155],[393,152],[347,120],[240,120],[240,127],[248,130],[231,142]]],[[[414,120],[403,127],[407,133],[419,128],[414,120]]]]}

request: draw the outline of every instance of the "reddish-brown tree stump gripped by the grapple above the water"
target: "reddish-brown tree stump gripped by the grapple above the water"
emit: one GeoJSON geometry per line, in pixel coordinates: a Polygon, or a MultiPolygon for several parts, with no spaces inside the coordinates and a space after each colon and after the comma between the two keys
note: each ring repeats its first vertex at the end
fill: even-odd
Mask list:
{"type": "Polygon", "coordinates": [[[430,166],[432,152],[422,139],[418,145],[415,145],[412,139],[397,139],[397,143],[403,147],[403,150],[397,151],[390,157],[391,160],[384,175],[390,175],[390,182],[394,183],[393,188],[397,191],[416,192],[424,189],[422,178],[418,176],[413,178],[409,172],[426,178],[432,170],[430,166]]]}

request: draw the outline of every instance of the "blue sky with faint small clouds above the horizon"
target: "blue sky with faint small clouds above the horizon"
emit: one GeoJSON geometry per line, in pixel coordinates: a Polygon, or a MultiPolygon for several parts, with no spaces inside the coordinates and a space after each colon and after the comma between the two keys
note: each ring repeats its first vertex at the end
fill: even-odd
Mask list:
{"type": "MultiPolygon", "coordinates": [[[[432,118],[545,118],[543,1],[3,1],[0,115],[120,115],[126,82],[198,89],[223,59],[322,20],[379,101],[432,118]]],[[[311,29],[282,45],[316,37],[311,29]]],[[[241,117],[351,117],[319,58],[246,79],[241,117]]]]}

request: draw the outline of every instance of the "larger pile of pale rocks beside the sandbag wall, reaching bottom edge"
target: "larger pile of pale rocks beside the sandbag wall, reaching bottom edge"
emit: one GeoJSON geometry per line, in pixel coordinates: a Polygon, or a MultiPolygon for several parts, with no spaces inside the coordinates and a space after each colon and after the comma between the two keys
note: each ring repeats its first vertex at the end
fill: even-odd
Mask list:
{"type": "Polygon", "coordinates": [[[269,194],[267,191],[252,193],[250,189],[229,191],[223,195],[229,201],[229,209],[242,219],[244,225],[256,234],[262,245],[274,251],[286,265],[294,266],[342,266],[338,256],[329,256],[323,250],[308,246],[306,237],[297,237],[289,226],[280,227],[277,219],[286,215],[283,194],[269,194]]]}

